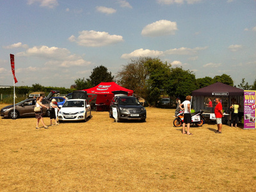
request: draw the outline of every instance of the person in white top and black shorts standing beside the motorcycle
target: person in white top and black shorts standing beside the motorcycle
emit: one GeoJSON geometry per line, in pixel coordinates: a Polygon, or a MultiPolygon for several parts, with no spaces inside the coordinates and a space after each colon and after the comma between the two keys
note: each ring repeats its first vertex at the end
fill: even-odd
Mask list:
{"type": "Polygon", "coordinates": [[[188,95],[186,97],[186,100],[182,102],[182,104],[179,105],[180,109],[182,111],[184,110],[184,120],[183,120],[183,125],[182,125],[182,134],[188,134],[188,135],[193,135],[191,132],[189,132],[189,127],[191,124],[191,114],[190,114],[190,100],[191,96],[188,95]],[[184,106],[184,108],[182,108],[184,106]],[[185,125],[187,124],[187,132],[185,131],[185,125]]]}

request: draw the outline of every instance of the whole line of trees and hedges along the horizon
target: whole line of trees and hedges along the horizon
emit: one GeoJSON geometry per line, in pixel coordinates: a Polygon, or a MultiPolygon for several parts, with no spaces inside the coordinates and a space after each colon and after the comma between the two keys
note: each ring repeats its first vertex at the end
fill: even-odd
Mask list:
{"type": "MultiPolygon", "coordinates": [[[[173,67],[171,63],[163,62],[159,58],[141,57],[129,61],[126,65],[112,76],[108,68],[100,65],[93,68],[88,79],[78,78],[70,88],[42,86],[32,84],[29,86],[16,87],[17,94],[30,92],[50,92],[60,90],[61,94],[71,93],[74,90],[84,90],[97,86],[101,82],[115,81],[120,86],[133,90],[138,97],[147,100],[151,106],[156,106],[161,95],[168,97],[180,97],[184,100],[186,95],[191,95],[193,90],[204,88],[212,83],[221,82],[234,86],[232,77],[227,74],[215,77],[203,77],[196,79],[191,70],[184,70],[182,67],[173,67]]],[[[256,79],[252,85],[245,82],[244,78],[238,85],[244,90],[256,90],[256,79]]],[[[1,88],[0,93],[11,94],[13,88],[1,88]]]]}

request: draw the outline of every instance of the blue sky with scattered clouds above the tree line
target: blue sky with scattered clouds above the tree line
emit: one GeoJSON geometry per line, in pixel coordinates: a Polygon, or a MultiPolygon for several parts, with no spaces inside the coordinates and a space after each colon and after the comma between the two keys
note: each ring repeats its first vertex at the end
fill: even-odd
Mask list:
{"type": "Polygon", "coordinates": [[[196,78],[256,79],[255,0],[0,1],[0,85],[70,87],[104,65],[113,75],[140,56],[196,78]]]}

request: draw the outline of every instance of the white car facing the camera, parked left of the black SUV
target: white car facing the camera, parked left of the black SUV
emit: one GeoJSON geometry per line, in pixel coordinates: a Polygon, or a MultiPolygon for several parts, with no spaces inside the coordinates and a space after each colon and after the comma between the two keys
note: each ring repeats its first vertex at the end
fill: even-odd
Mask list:
{"type": "Polygon", "coordinates": [[[86,99],[68,99],[58,113],[59,121],[77,121],[91,117],[91,106],[86,99]]]}

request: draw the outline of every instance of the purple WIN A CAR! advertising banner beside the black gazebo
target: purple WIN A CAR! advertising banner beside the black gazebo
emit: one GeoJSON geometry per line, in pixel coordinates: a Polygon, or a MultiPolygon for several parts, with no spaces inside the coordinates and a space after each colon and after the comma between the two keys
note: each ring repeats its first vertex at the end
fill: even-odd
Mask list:
{"type": "Polygon", "coordinates": [[[256,91],[244,91],[244,129],[255,129],[256,91]]]}

